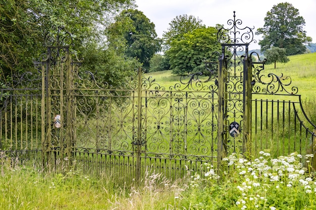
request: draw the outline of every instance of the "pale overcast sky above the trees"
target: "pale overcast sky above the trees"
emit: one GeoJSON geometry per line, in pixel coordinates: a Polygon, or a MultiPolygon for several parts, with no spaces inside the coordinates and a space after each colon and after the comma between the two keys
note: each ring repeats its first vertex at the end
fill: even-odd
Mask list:
{"type": "MultiPolygon", "coordinates": [[[[285,2],[298,9],[300,16],[305,19],[307,36],[316,43],[316,0],[136,0],[136,5],[155,24],[156,33],[162,38],[171,20],[184,14],[198,17],[206,26],[222,24],[227,28],[227,21],[233,19],[233,11],[236,11],[236,19],[242,21],[241,26],[254,27],[255,32],[264,26],[267,12],[274,5],[285,2]]],[[[254,37],[257,42],[260,38],[254,37]]],[[[249,48],[260,47],[257,43],[251,43],[249,48]]]]}

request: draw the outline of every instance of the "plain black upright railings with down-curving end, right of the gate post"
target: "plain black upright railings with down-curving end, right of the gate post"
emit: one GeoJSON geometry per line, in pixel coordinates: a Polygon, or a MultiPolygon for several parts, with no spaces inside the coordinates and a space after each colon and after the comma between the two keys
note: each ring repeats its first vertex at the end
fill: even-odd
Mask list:
{"type": "Polygon", "coordinates": [[[314,153],[316,126],[302,109],[300,95],[253,94],[252,106],[254,155],[263,150],[275,157],[314,153]]]}

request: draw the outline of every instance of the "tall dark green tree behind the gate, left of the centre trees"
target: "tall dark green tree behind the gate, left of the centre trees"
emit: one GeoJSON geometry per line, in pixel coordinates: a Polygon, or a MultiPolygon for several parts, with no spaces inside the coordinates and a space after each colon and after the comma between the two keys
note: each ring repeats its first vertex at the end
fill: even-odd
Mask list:
{"type": "MultiPolygon", "coordinates": [[[[121,26],[121,30],[116,31],[116,34],[113,34],[113,30],[109,31],[110,37],[124,38],[127,46],[125,54],[138,58],[145,68],[149,68],[150,58],[161,49],[161,40],[157,38],[154,24],[143,12],[133,9],[122,11],[114,24],[121,26]]],[[[112,38],[109,41],[115,44],[112,38]]]]}

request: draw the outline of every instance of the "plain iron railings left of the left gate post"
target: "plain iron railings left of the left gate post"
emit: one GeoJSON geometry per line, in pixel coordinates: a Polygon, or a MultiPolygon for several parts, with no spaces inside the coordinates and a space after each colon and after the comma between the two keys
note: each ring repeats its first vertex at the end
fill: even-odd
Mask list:
{"type": "Polygon", "coordinates": [[[26,72],[0,84],[0,150],[20,162],[40,160],[41,74],[26,72]]]}

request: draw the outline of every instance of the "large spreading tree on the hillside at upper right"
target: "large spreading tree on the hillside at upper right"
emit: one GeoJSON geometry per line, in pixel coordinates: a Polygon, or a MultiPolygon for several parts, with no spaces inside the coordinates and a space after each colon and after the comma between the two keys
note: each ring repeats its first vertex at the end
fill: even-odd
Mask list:
{"type": "Polygon", "coordinates": [[[305,20],[299,12],[289,3],[280,3],[273,6],[267,13],[265,25],[258,28],[256,34],[262,34],[259,41],[261,51],[265,52],[271,47],[286,49],[287,55],[301,54],[306,51],[304,43],[310,43],[311,37],[306,36],[303,30],[305,20]]]}

